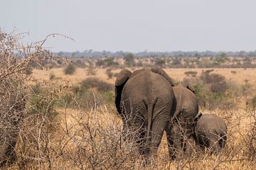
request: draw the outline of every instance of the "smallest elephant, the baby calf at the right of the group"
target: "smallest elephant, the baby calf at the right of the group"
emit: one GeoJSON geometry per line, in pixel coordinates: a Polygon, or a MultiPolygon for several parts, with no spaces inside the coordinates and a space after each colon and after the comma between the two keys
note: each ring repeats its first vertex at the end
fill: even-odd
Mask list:
{"type": "Polygon", "coordinates": [[[202,149],[208,147],[211,152],[220,154],[227,140],[227,125],[214,114],[201,114],[195,127],[196,144],[202,149]]]}

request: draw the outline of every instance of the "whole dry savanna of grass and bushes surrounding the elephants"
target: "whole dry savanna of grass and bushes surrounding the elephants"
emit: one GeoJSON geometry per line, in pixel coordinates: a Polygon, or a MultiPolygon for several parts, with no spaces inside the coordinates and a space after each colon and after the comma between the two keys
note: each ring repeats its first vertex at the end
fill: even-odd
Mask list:
{"type": "MultiPolygon", "coordinates": [[[[0,35],[0,120],[18,119],[4,114],[14,107],[12,96],[23,96],[26,103],[15,127],[15,162],[3,169],[256,169],[255,57],[127,53],[67,59],[44,50],[42,42],[24,47],[21,35],[0,35]],[[157,157],[145,166],[134,141],[124,141],[114,81],[122,68],[150,67],[162,67],[175,84],[192,84],[200,111],[225,120],[228,141],[222,154],[194,150],[192,157],[169,161],[164,135],[157,157]]],[[[12,131],[1,121],[1,135],[8,136],[12,131]]]]}

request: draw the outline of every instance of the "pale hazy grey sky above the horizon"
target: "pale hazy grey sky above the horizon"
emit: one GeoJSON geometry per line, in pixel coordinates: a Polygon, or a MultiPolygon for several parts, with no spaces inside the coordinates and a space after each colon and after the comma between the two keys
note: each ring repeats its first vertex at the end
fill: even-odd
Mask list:
{"type": "Polygon", "coordinates": [[[53,51],[256,50],[255,0],[1,0],[0,28],[53,51]]]}

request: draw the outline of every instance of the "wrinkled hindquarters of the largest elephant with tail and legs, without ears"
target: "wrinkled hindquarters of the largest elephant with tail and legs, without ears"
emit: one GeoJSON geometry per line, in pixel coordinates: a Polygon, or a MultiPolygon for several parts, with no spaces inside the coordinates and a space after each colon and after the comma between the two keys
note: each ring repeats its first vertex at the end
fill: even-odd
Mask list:
{"type": "Polygon", "coordinates": [[[176,108],[171,84],[161,75],[145,69],[127,81],[121,101],[127,127],[144,128],[144,137],[151,147],[151,153],[155,153],[154,149],[159,146],[176,108]]]}

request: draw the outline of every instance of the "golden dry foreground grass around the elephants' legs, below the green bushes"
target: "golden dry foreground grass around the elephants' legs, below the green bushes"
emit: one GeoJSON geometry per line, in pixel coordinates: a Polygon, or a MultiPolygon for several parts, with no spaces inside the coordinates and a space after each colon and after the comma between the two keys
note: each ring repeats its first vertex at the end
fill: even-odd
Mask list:
{"type": "MultiPolygon", "coordinates": [[[[26,169],[255,169],[255,160],[248,159],[247,132],[253,117],[238,111],[219,113],[228,123],[228,142],[219,157],[193,155],[188,159],[169,162],[166,137],[157,158],[143,165],[137,148],[122,140],[122,120],[107,107],[82,111],[59,108],[60,128],[50,133],[48,157],[41,164],[30,162],[26,169]],[[246,124],[245,124],[246,122],[246,124]]],[[[21,156],[21,155],[19,155],[21,156]]],[[[21,156],[22,157],[22,156],[21,156]]],[[[17,165],[11,169],[18,169],[17,165]]]]}

